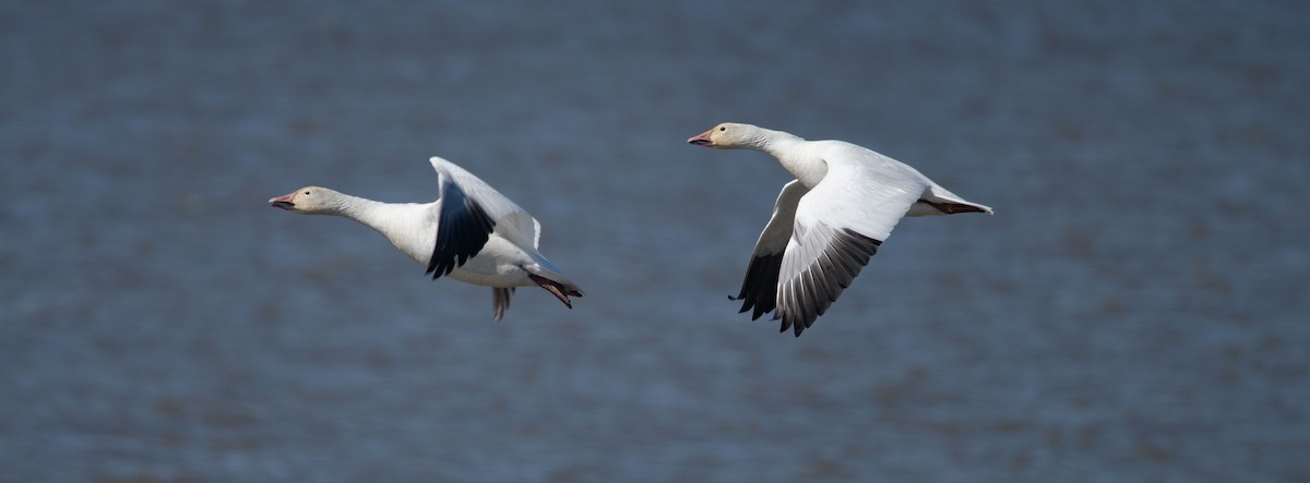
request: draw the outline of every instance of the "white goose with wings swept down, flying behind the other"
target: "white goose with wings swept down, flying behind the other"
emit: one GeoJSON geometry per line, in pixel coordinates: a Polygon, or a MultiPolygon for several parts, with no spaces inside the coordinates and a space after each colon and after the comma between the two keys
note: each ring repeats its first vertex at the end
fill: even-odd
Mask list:
{"type": "Polygon", "coordinates": [[[741,310],[769,312],[796,336],[859,275],[904,216],[981,212],[918,170],[870,149],[751,124],[723,123],[686,140],[755,149],[778,158],[796,179],[778,194],[747,267],[741,310]]]}

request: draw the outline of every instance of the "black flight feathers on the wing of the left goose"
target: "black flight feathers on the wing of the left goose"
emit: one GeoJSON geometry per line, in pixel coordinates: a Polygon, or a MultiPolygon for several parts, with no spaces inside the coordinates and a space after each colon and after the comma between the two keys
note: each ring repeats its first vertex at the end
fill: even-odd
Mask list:
{"type": "Polygon", "coordinates": [[[449,275],[452,270],[482,250],[494,229],[495,221],[487,216],[482,206],[465,195],[460,185],[444,181],[436,245],[432,247],[426,274],[432,274],[432,279],[449,275]]]}

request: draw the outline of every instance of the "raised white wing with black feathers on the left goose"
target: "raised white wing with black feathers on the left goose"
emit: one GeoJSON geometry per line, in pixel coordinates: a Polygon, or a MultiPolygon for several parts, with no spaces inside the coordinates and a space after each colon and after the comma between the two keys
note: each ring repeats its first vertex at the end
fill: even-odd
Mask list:
{"type": "Polygon", "coordinates": [[[432,277],[477,255],[491,233],[536,251],[541,225],[532,215],[464,168],[439,156],[428,161],[436,169],[441,192],[436,245],[427,266],[432,277]]]}

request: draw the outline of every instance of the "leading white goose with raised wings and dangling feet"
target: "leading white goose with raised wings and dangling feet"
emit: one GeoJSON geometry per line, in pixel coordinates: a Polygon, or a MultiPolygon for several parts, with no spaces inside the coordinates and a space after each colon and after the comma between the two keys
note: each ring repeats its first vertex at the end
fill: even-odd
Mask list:
{"type": "Polygon", "coordinates": [[[494,317],[504,317],[515,287],[537,285],[572,309],[569,296],[582,291],[537,251],[541,224],[482,179],[440,157],[440,199],[432,203],[381,203],[307,186],[270,199],[274,208],[305,215],[335,215],[377,230],[432,279],[491,287],[494,317]]]}

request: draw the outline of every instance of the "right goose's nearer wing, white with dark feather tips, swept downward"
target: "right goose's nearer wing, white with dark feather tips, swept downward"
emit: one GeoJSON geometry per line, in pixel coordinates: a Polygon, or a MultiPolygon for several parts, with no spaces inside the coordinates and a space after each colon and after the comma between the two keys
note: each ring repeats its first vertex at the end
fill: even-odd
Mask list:
{"type": "Polygon", "coordinates": [[[869,152],[829,157],[823,181],[796,204],[778,271],[782,330],[806,327],[837,300],[927,187],[900,164],[869,152]]]}

